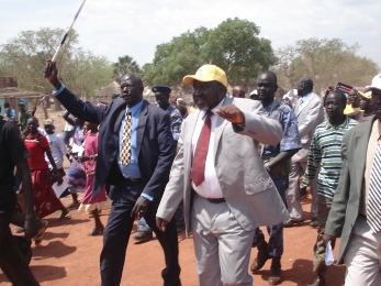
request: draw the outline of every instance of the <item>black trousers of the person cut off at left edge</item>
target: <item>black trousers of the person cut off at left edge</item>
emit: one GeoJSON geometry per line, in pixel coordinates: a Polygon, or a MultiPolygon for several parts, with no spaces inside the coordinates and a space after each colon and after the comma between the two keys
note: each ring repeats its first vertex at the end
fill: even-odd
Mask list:
{"type": "Polygon", "coordinates": [[[0,267],[15,286],[40,285],[21,255],[9,223],[12,211],[0,211],[0,267]]]}

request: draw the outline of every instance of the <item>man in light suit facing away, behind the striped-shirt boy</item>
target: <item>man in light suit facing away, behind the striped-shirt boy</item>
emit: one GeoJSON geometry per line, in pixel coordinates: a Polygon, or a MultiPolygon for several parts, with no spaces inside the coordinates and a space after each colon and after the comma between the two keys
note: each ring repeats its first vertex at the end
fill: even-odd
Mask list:
{"type": "MultiPolygon", "coordinates": [[[[295,105],[295,116],[298,119],[299,134],[302,139],[303,148],[292,156],[292,167],[289,175],[289,188],[285,191],[287,204],[291,218],[284,221],[285,228],[293,227],[304,221],[303,209],[300,202],[299,178],[305,172],[311,139],[315,128],[324,120],[322,99],[312,91],[313,81],[311,78],[301,78],[296,84],[298,96],[295,105]]],[[[317,220],[317,178],[310,185],[312,194],[311,204],[311,227],[318,227],[317,220]]]]}

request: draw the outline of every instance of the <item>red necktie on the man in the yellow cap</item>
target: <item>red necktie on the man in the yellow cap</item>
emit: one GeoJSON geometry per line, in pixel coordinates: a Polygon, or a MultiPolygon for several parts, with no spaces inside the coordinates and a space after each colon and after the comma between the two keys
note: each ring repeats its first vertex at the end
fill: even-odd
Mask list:
{"type": "Polygon", "coordinates": [[[211,138],[211,117],[212,111],[206,111],[204,125],[202,127],[198,144],[195,145],[191,179],[195,186],[199,186],[205,178],[205,162],[209,148],[209,140],[211,138]]]}

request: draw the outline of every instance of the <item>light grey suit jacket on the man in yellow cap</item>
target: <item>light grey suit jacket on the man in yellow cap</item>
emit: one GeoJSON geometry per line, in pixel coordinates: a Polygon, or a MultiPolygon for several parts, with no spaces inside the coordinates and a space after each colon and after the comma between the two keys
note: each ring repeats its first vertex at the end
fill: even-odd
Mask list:
{"type": "MultiPolygon", "coordinates": [[[[246,127],[218,117],[215,128],[214,166],[226,202],[245,230],[273,226],[289,218],[277,188],[259,158],[259,143],[277,144],[282,138],[278,121],[261,117],[260,101],[228,98],[225,105],[236,105],[245,114],[246,127]]],[[[187,235],[190,231],[192,188],[192,136],[200,111],[193,111],[182,123],[169,183],[157,210],[157,217],[170,221],[183,200],[187,235]]]]}

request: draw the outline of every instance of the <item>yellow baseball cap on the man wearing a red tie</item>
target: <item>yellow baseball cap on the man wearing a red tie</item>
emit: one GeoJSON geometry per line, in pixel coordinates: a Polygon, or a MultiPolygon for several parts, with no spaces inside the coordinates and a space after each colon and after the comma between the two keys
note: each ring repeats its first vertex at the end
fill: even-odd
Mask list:
{"type": "Polygon", "coordinates": [[[203,65],[198,69],[198,72],[195,72],[195,75],[184,76],[182,82],[184,82],[186,85],[192,85],[194,79],[200,81],[215,80],[227,87],[227,78],[225,72],[215,65],[203,65]]]}

